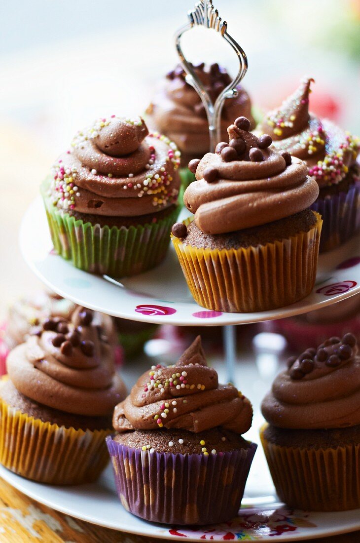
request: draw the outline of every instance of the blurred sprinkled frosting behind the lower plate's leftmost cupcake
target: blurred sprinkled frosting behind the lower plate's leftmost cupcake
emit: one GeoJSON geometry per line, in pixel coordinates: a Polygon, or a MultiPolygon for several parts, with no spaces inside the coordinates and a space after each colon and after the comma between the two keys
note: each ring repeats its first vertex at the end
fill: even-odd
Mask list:
{"type": "MultiPolygon", "coordinates": [[[[61,317],[68,320],[76,309],[76,304],[55,294],[38,291],[15,301],[9,307],[4,339],[9,348],[23,343],[28,336],[41,330],[41,322],[49,317],[61,317]]],[[[93,313],[93,323],[101,325],[110,343],[116,343],[113,320],[109,315],[93,313]]]]}

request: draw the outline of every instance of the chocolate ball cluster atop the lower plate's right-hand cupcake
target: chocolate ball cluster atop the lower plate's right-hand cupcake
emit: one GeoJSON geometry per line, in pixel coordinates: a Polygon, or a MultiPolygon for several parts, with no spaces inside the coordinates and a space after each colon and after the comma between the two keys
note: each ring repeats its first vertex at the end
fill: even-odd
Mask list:
{"type": "Polygon", "coordinates": [[[306,349],[299,357],[289,358],[287,366],[290,377],[294,380],[302,379],[323,365],[337,368],[353,356],[355,346],[356,337],[351,333],[346,333],[342,339],[331,337],[319,345],[317,349],[306,349]]]}

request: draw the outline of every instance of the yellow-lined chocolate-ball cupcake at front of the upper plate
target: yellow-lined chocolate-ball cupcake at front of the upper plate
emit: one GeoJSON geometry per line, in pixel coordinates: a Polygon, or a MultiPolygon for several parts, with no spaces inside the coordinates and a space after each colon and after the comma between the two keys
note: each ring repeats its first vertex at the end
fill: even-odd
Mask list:
{"type": "Polygon", "coordinates": [[[272,310],[304,298],[316,277],[322,220],[309,208],[319,188],[303,161],[269,148],[239,117],[229,143],[189,163],[184,194],[194,220],[172,228],[195,301],[228,312],[272,310]]]}

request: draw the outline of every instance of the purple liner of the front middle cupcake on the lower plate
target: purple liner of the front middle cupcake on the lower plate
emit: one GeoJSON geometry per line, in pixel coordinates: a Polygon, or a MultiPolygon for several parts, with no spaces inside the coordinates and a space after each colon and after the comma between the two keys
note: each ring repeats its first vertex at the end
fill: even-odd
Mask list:
{"type": "Polygon", "coordinates": [[[257,445],[217,454],[171,454],[106,444],[121,504],[142,519],[205,525],[233,519],[257,445]]]}

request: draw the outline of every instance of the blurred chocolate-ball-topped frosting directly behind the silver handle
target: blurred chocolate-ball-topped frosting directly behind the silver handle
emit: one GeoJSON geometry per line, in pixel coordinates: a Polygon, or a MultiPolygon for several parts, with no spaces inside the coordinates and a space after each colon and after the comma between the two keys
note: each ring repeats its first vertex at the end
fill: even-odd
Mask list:
{"type": "MultiPolygon", "coordinates": [[[[202,62],[193,68],[214,102],[220,92],[232,81],[227,71],[218,64],[205,67],[202,62]]],[[[195,89],[186,82],[185,77],[186,73],[181,65],[169,72],[160,82],[146,110],[149,123],[175,141],[182,151],[183,166],[187,166],[192,158],[207,153],[210,145],[208,119],[204,105],[195,89]]],[[[252,127],[255,125],[247,92],[240,85],[236,89],[237,96],[224,101],[223,137],[226,136],[229,122],[239,115],[248,117],[252,127]]]]}

